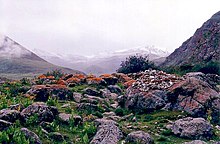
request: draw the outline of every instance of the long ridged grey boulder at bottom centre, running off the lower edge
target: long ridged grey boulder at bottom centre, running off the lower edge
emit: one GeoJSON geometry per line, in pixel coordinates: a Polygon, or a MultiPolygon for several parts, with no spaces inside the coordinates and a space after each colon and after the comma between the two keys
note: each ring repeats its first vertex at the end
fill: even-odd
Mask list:
{"type": "Polygon", "coordinates": [[[117,144],[123,137],[117,123],[113,120],[96,119],[98,131],[90,144],[117,144]]]}

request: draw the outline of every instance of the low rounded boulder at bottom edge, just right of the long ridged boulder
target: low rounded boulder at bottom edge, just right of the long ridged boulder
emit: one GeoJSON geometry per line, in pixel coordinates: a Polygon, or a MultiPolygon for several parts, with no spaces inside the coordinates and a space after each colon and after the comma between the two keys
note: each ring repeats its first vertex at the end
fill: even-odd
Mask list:
{"type": "Polygon", "coordinates": [[[153,138],[144,131],[135,131],[126,137],[126,143],[153,144],[153,138]]]}

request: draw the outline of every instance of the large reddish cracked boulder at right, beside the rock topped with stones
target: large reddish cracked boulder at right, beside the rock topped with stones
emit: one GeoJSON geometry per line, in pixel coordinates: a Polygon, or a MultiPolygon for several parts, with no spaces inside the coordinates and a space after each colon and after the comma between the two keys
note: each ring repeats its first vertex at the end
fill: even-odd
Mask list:
{"type": "Polygon", "coordinates": [[[207,118],[208,110],[211,110],[213,117],[218,115],[216,111],[220,110],[219,94],[205,81],[187,77],[174,84],[168,91],[172,109],[184,110],[194,117],[207,118]]]}

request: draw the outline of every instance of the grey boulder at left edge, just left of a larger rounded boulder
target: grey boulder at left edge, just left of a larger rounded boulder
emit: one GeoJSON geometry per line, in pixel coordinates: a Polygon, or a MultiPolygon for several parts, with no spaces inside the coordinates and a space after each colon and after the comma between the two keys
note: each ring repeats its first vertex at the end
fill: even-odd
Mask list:
{"type": "Polygon", "coordinates": [[[0,111],[0,119],[13,123],[20,119],[20,112],[17,110],[3,109],[0,111]]]}

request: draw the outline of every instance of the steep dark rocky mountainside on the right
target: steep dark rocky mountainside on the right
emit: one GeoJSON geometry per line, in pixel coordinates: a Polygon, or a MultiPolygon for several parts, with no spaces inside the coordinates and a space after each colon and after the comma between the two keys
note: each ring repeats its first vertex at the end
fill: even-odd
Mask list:
{"type": "Polygon", "coordinates": [[[170,54],[162,66],[181,66],[210,61],[220,61],[220,11],[170,54]]]}

